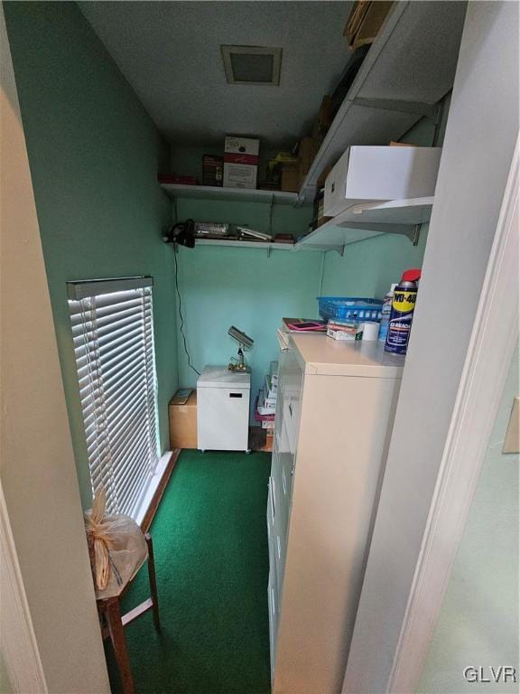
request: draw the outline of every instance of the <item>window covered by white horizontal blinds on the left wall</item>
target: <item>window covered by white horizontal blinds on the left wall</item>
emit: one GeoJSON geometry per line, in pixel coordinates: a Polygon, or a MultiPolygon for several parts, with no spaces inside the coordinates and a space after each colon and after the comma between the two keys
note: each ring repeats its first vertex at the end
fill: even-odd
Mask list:
{"type": "Polygon", "coordinates": [[[92,490],[135,518],[159,460],[153,278],[67,286],[92,490]]]}

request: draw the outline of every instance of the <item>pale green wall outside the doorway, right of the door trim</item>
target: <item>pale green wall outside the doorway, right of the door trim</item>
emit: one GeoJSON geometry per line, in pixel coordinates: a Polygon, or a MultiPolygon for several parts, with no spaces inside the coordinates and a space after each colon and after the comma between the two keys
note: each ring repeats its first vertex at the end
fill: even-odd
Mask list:
{"type": "MultiPolygon", "coordinates": [[[[518,345],[424,663],[419,692],[518,692],[518,682],[467,682],[463,670],[518,668],[518,454],[502,446],[518,395],[518,345]]],[[[518,677],[518,671],[516,672],[518,677]]]]}

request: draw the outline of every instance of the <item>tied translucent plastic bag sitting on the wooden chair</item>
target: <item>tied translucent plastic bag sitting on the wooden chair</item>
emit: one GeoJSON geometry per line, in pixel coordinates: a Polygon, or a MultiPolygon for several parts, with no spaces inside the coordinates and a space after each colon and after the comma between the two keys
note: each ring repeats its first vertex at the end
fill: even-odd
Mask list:
{"type": "Polygon", "coordinates": [[[144,534],[129,516],[106,514],[105,490],[96,492],[85,512],[85,528],[92,539],[91,563],[96,597],[118,596],[135,577],[148,554],[144,534]]]}

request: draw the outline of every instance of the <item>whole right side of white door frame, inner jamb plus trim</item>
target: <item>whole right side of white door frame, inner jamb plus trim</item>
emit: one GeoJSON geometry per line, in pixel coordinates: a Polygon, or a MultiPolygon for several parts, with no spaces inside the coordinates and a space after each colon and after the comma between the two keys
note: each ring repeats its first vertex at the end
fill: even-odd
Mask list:
{"type": "Polygon", "coordinates": [[[508,264],[515,263],[517,250],[508,206],[514,204],[516,174],[509,179],[508,175],[518,139],[517,21],[516,3],[468,5],[421,291],[348,652],[344,694],[403,694],[415,689],[457,548],[457,528],[464,525],[471,480],[478,472],[477,468],[464,478],[456,492],[456,478],[462,474],[459,461],[472,457],[470,451],[481,450],[469,448],[466,427],[477,412],[479,417],[483,413],[475,405],[470,412],[468,395],[476,398],[479,393],[482,407],[489,408],[480,421],[482,430],[477,430],[481,446],[482,441],[487,443],[497,392],[511,362],[517,269],[508,264]],[[503,207],[507,212],[501,212],[503,207]],[[488,301],[503,297],[489,311],[479,305],[483,287],[488,301]],[[489,330],[494,319],[498,320],[495,332],[489,330]],[[454,477],[445,477],[449,470],[454,477]],[[459,493],[451,506],[445,496],[450,492],[459,493]],[[441,526],[441,501],[450,512],[466,507],[455,521],[446,518],[449,531],[441,526]],[[441,544],[442,539],[446,544],[441,544]],[[432,565],[438,572],[435,578],[425,576],[432,565]],[[437,582],[437,592],[430,584],[422,587],[426,580],[437,582]],[[417,624],[421,619],[425,624],[417,624]]]}

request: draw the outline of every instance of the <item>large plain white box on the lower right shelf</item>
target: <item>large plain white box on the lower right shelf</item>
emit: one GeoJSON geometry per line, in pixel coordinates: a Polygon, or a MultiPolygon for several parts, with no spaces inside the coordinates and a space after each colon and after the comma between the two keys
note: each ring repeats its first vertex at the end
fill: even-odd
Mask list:
{"type": "Polygon", "coordinates": [[[336,217],[361,202],[430,197],[441,147],[348,147],[325,181],[323,214],[336,217]]]}

